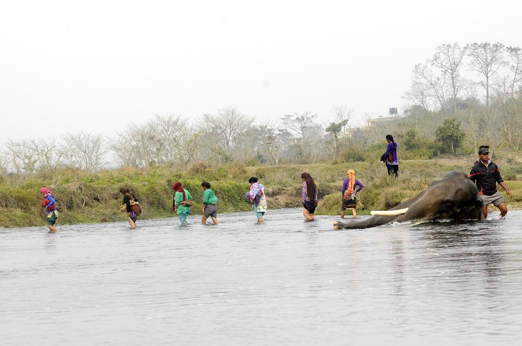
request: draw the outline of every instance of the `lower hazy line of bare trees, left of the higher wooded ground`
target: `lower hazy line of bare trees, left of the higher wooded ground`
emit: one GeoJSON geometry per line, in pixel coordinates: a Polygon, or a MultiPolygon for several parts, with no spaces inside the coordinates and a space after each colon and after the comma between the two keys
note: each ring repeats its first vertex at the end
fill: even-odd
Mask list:
{"type": "Polygon", "coordinates": [[[350,131],[353,109],[334,106],[331,117],[326,124],[311,112],[257,121],[233,106],[200,117],[155,115],[145,123],[129,123],[112,136],[79,132],[7,140],[0,151],[0,172],[24,176],[67,167],[98,171],[116,166],[186,167],[200,161],[312,164],[335,158],[339,138],[350,131]]]}

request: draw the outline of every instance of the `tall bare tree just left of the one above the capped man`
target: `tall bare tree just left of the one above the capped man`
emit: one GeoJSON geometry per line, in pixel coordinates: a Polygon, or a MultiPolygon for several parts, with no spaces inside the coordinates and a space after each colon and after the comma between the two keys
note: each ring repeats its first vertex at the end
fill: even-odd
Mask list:
{"type": "Polygon", "coordinates": [[[460,76],[462,59],[466,53],[466,47],[461,48],[456,42],[453,44],[441,44],[435,48],[435,54],[431,63],[441,69],[449,77],[450,95],[453,98],[453,110],[457,110],[457,96],[464,85],[464,80],[460,76]]]}

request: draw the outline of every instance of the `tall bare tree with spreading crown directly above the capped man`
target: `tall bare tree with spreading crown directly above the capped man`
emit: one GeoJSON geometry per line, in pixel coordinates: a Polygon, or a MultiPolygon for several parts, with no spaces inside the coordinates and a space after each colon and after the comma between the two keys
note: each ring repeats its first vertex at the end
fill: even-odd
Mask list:
{"type": "Polygon", "coordinates": [[[502,43],[473,43],[466,45],[471,59],[471,70],[479,72],[485,79],[480,85],[486,92],[486,106],[490,104],[490,80],[496,71],[504,65],[504,45],[502,43]]]}

